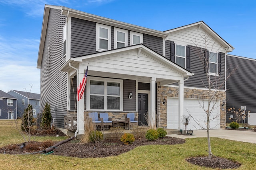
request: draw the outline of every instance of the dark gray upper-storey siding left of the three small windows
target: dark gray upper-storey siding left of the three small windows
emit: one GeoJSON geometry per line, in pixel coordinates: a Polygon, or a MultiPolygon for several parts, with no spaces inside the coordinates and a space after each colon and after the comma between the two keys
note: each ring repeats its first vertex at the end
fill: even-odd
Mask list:
{"type": "Polygon", "coordinates": [[[96,53],[96,23],[71,18],[71,57],[96,53]]]}

